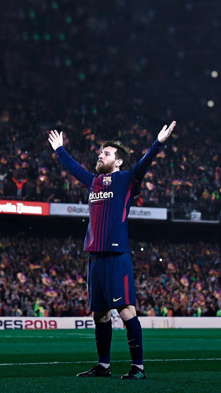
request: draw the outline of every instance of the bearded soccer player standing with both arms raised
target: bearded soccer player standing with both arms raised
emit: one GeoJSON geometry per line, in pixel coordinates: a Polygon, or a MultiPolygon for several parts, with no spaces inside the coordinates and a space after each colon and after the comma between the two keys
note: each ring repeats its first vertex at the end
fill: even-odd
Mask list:
{"type": "Polygon", "coordinates": [[[88,257],[88,302],[95,321],[98,364],[79,377],[111,376],[111,309],[117,309],[127,330],[132,358],[130,371],[122,379],[144,379],[142,330],[136,316],[135,285],[130,257],[127,217],[133,197],[162,143],[174,129],[173,121],[164,125],[157,140],[130,171],[129,149],[119,141],[100,147],[96,170],[92,174],[73,160],[63,147],[62,132],[51,131],[49,142],[62,164],[89,190],[89,225],[84,241],[88,257]]]}

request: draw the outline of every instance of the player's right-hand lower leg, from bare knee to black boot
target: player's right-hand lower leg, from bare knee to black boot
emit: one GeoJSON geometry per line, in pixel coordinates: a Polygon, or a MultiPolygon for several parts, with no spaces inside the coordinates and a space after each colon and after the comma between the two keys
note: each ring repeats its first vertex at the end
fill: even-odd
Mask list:
{"type": "Polygon", "coordinates": [[[135,307],[126,305],[119,307],[118,312],[127,330],[127,339],[132,358],[131,369],[121,379],[145,379],[143,367],[142,329],[136,316],[135,307]]]}

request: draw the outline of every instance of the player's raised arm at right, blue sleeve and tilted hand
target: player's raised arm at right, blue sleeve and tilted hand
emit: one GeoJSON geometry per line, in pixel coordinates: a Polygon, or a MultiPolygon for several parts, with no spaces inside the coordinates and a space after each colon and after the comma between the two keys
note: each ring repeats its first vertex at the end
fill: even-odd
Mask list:
{"type": "Polygon", "coordinates": [[[145,173],[148,170],[148,167],[151,165],[153,158],[157,155],[157,153],[162,148],[162,143],[170,136],[172,130],[174,129],[176,122],[173,121],[168,127],[164,125],[163,129],[159,132],[157,140],[153,142],[153,145],[150,147],[148,152],[139,160],[136,165],[130,170],[133,173],[133,179],[137,182],[141,182],[144,178],[145,173]]]}

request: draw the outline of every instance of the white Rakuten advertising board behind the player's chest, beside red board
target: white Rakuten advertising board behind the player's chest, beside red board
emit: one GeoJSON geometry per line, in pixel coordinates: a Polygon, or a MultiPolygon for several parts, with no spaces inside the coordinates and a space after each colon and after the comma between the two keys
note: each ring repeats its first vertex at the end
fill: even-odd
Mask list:
{"type": "MultiPolygon", "coordinates": [[[[89,217],[89,208],[86,204],[50,203],[49,215],[69,217],[89,217]]],[[[164,208],[138,208],[132,206],[129,219],[166,220],[167,209],[164,208]]]]}

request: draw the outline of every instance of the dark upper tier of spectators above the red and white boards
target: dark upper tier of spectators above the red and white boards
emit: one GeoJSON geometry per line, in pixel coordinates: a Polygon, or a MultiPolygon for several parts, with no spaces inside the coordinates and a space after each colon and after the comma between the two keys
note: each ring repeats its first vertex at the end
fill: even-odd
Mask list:
{"type": "MultiPolygon", "coordinates": [[[[77,3],[74,12],[66,0],[7,3],[0,26],[0,198],[87,203],[88,192],[47,141],[51,129],[62,130],[69,154],[94,172],[104,140],[122,140],[130,147],[125,168],[130,169],[164,123],[175,119],[177,127],[152,162],[134,204],[192,204],[216,218],[221,209],[220,121],[201,92],[202,78],[205,91],[211,90],[208,50],[215,59],[216,42],[201,38],[198,26],[200,44],[192,51],[191,37],[182,33],[192,18],[188,9],[183,11],[188,18],[178,20],[180,30],[168,24],[164,31],[162,15],[146,2],[140,9],[132,2],[110,3],[105,9],[97,5],[96,11],[92,4],[77,3]],[[144,34],[149,26],[157,33],[144,34]],[[177,49],[180,40],[185,50],[177,49]],[[148,54],[143,48],[149,48],[148,54]],[[165,48],[175,51],[177,60],[173,64],[164,57],[159,68],[165,48]]],[[[204,17],[207,22],[209,15],[204,17]]],[[[218,95],[213,84],[215,101],[218,95]]]]}

